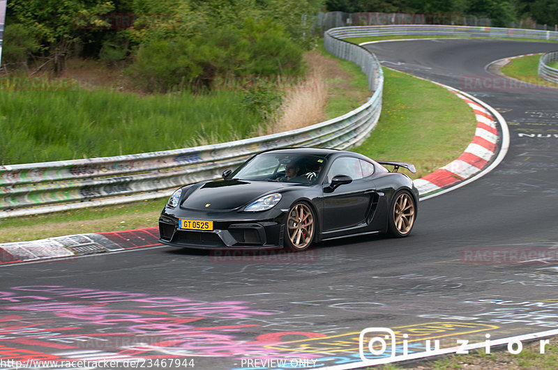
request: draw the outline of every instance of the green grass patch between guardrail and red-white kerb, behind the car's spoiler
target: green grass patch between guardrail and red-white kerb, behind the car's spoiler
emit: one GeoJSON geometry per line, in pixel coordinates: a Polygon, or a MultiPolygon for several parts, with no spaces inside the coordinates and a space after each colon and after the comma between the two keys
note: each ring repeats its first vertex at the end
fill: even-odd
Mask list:
{"type": "Polygon", "coordinates": [[[354,151],[411,162],[425,176],[458,157],[474,137],[472,109],[445,88],[384,68],[384,102],[375,130],[354,151]]]}

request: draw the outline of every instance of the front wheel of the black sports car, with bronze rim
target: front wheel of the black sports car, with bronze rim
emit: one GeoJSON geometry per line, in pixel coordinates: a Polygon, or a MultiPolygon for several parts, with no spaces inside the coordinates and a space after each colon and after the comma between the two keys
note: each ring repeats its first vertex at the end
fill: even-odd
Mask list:
{"type": "Polygon", "coordinates": [[[295,203],[285,219],[285,247],[301,252],[310,247],[316,233],[316,217],[307,203],[295,203]]]}

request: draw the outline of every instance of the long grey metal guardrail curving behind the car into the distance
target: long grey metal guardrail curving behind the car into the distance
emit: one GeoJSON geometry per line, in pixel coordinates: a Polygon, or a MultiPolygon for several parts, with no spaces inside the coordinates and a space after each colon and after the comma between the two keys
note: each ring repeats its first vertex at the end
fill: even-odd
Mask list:
{"type": "MultiPolygon", "coordinates": [[[[218,178],[248,155],[285,146],[349,148],[365,139],[375,127],[382,109],[383,75],[376,57],[343,38],[371,36],[432,35],[483,38],[534,38],[558,40],[558,32],[526,29],[498,29],[478,26],[354,26],[326,31],[326,49],[353,61],[368,75],[372,97],[365,105],[344,116],[308,128],[264,137],[200,146],[175,151],[122,155],[0,167],[0,217],[31,215],[54,210],[84,208],[87,201],[106,199],[121,203],[153,198],[153,192],[168,190],[199,180],[218,178]],[[130,194],[148,193],[130,196],[130,194]],[[76,203],[82,202],[82,203],[76,203]],[[49,207],[31,208],[33,206],[49,207]],[[31,209],[30,209],[31,208],[31,209]]],[[[167,192],[161,192],[166,196],[167,192]]]]}

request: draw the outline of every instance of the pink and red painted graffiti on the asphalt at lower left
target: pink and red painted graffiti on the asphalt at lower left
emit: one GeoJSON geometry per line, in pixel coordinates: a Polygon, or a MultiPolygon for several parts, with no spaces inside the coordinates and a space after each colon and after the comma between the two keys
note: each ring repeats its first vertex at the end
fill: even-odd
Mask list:
{"type": "MultiPolygon", "coordinates": [[[[0,359],[121,360],[174,357],[273,357],[266,345],[313,332],[246,334],[255,324],[222,319],[268,316],[248,302],[206,302],[64,286],[14,286],[0,292],[0,359]],[[30,349],[32,348],[32,349],[30,349]]],[[[283,351],[281,351],[283,353],[283,351]]],[[[289,353],[289,356],[296,355],[289,353]]],[[[315,357],[299,353],[296,358],[315,357]]]]}

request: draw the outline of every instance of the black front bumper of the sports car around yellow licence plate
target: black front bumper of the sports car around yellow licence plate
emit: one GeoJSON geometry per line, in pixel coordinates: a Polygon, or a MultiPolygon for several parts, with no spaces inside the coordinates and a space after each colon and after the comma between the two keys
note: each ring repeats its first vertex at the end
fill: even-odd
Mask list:
{"type": "Polygon", "coordinates": [[[205,213],[165,208],[159,217],[159,241],[195,249],[278,249],[283,247],[287,210],[263,213],[205,213]],[[179,228],[179,219],[213,221],[213,231],[179,228]]]}

